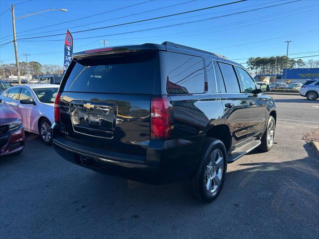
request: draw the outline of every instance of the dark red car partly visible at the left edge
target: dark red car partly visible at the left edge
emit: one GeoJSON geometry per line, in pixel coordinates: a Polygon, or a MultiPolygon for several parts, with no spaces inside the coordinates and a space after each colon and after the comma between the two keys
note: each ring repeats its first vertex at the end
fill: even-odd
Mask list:
{"type": "Polygon", "coordinates": [[[24,148],[24,130],[20,116],[0,107],[0,157],[20,153],[24,148]]]}

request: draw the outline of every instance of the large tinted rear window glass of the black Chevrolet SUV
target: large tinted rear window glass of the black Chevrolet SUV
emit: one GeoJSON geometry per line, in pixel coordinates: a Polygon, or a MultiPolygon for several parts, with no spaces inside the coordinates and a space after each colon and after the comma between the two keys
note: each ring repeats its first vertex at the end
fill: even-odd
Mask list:
{"type": "Polygon", "coordinates": [[[79,59],[64,91],[152,94],[157,59],[156,51],[79,59]]]}

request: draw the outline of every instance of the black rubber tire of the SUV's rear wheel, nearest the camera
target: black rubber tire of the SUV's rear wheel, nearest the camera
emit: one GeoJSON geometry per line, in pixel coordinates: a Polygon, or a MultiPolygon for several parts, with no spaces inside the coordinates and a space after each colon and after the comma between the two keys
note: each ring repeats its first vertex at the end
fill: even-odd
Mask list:
{"type": "MultiPolygon", "coordinates": [[[[219,169],[216,167],[216,171],[217,170],[219,169]]],[[[227,170],[227,154],[226,154],[225,145],[219,139],[206,138],[204,142],[203,150],[201,153],[199,166],[196,172],[192,175],[192,177],[182,182],[183,189],[186,192],[186,194],[192,199],[202,201],[202,202],[212,202],[214,199],[218,197],[219,193],[221,192],[223,188],[226,170],[227,170]],[[211,174],[208,173],[206,175],[206,172],[214,152],[217,152],[218,155],[221,153],[223,157],[223,162],[222,163],[219,162],[220,168],[222,166],[222,171],[219,172],[221,178],[219,181],[220,183],[218,184],[216,189],[215,189],[215,183],[214,183],[213,191],[208,191],[206,187],[206,183],[208,181],[207,176],[211,174]]],[[[217,176],[217,173],[215,173],[214,175],[217,176]]],[[[211,182],[213,183],[214,180],[211,179],[211,182]]]]}

